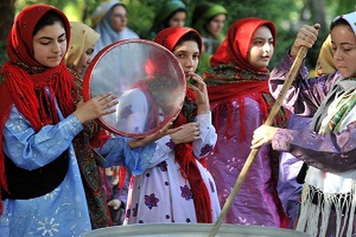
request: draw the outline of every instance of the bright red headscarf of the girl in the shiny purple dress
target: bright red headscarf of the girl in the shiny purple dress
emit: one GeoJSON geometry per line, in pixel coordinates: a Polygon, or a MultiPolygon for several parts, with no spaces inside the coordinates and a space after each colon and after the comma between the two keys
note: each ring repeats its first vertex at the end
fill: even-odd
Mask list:
{"type": "Polygon", "coordinates": [[[271,30],[274,39],[273,46],[275,46],[276,27],[274,27],[271,21],[256,17],[242,18],[241,20],[235,21],[229,28],[225,40],[210,59],[211,66],[232,63],[244,69],[249,68],[254,71],[267,71],[267,68],[257,69],[247,62],[247,54],[250,49],[252,36],[261,26],[267,26],[271,30]]]}

